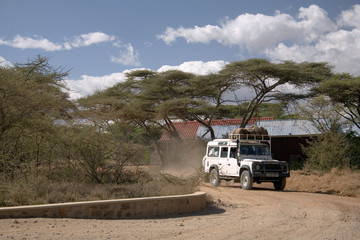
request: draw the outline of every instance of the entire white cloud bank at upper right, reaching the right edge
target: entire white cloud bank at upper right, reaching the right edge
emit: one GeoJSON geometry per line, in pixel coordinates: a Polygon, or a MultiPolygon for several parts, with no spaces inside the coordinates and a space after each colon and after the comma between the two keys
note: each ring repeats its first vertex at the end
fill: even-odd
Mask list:
{"type": "Polygon", "coordinates": [[[360,5],[343,11],[337,21],[327,12],[311,5],[300,8],[298,16],[277,12],[273,16],[242,14],[218,25],[192,28],[167,28],[159,35],[166,44],[179,38],[188,43],[216,41],[224,46],[238,46],[273,61],[328,62],[337,72],[360,75],[360,5]]]}

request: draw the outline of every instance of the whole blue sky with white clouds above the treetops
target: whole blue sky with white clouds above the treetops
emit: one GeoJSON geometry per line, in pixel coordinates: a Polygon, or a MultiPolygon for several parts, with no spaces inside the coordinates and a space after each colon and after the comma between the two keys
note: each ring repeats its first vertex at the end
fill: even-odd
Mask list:
{"type": "Polygon", "coordinates": [[[251,58],[360,76],[359,0],[0,0],[0,65],[70,70],[71,99],[133,69],[215,73],[251,58]]]}

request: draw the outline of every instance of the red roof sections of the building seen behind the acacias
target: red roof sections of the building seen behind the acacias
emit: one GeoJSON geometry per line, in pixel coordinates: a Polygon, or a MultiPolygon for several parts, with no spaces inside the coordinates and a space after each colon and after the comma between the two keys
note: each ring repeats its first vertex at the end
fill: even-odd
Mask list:
{"type": "MultiPolygon", "coordinates": [[[[252,125],[257,121],[271,121],[274,120],[274,117],[262,117],[262,118],[252,118],[248,124],[252,125]]],[[[220,119],[213,120],[211,126],[228,126],[228,125],[240,125],[242,118],[239,119],[220,119]]],[[[173,122],[174,127],[176,128],[179,136],[183,140],[195,139],[196,132],[201,126],[200,123],[196,121],[186,121],[186,122],[173,122]]],[[[164,131],[161,135],[159,141],[168,141],[171,137],[167,131],[164,131]]]]}

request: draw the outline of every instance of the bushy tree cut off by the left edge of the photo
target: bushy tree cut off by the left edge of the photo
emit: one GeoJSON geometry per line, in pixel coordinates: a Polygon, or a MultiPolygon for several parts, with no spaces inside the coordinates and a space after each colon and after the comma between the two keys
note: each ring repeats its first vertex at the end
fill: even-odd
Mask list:
{"type": "Polygon", "coordinates": [[[64,93],[68,74],[38,56],[26,64],[0,67],[0,171],[24,172],[41,164],[50,151],[54,121],[67,117],[73,104],[64,93]]]}

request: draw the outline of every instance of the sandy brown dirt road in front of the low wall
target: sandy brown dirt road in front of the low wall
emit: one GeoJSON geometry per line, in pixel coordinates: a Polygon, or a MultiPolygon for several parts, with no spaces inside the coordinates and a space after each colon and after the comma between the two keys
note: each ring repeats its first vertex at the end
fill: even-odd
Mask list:
{"type": "Polygon", "coordinates": [[[202,184],[202,212],[143,220],[0,219],[0,239],[359,239],[360,199],[202,184]]]}

